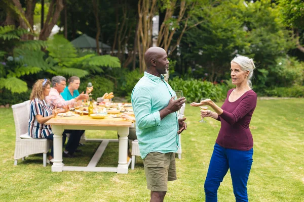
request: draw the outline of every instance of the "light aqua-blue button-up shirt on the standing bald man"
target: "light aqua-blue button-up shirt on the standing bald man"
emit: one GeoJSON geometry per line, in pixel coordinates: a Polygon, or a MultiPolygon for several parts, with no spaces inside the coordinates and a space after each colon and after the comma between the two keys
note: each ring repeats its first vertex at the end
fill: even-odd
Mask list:
{"type": "Polygon", "coordinates": [[[142,159],[154,151],[166,154],[178,149],[176,112],[162,120],[159,112],[168,106],[172,96],[175,93],[163,75],[157,77],[147,72],[144,72],[132,91],[131,102],[142,159]]]}

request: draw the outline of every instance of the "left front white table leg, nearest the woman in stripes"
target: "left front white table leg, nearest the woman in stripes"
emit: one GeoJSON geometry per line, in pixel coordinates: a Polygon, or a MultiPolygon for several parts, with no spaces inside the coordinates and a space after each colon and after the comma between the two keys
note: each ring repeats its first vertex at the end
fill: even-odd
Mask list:
{"type": "Polygon", "coordinates": [[[62,126],[52,126],[52,132],[54,133],[54,163],[52,166],[52,172],[62,172],[62,133],[64,129],[62,126]]]}

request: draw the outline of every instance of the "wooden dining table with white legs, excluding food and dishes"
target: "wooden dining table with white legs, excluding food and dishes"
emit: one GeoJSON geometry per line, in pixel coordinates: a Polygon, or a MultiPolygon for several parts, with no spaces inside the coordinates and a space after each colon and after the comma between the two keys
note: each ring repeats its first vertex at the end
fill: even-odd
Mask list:
{"type": "Polygon", "coordinates": [[[117,172],[128,173],[128,167],[131,160],[127,162],[128,156],[128,135],[129,128],[134,127],[134,123],[121,118],[113,118],[110,115],[104,119],[93,119],[88,115],[80,116],[75,114],[70,117],[60,117],[50,119],[46,122],[52,126],[54,133],[54,163],[52,165],[52,172],[62,171],[93,171],[93,172],[117,172]],[[94,156],[89,164],[85,167],[80,166],[66,166],[62,163],[62,133],[65,129],[70,130],[112,130],[118,131],[118,139],[93,139],[92,141],[100,141],[94,156]],[[96,167],[100,160],[103,151],[108,142],[119,142],[119,158],[117,167],[96,167]]]}

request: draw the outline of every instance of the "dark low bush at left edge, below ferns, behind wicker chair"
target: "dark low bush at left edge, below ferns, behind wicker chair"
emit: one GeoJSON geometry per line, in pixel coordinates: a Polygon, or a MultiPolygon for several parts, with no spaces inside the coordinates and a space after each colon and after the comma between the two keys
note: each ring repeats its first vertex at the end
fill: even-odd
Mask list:
{"type": "Polygon", "coordinates": [[[0,89],[0,105],[23,103],[24,101],[29,100],[30,93],[31,89],[22,93],[12,93],[10,90],[0,89]]]}

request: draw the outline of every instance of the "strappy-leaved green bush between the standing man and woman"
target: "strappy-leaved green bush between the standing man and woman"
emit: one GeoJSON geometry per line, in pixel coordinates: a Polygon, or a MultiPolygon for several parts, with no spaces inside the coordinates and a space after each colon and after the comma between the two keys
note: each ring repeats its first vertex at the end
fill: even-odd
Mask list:
{"type": "Polygon", "coordinates": [[[169,81],[173,90],[182,90],[188,103],[200,102],[201,97],[209,97],[213,101],[221,101],[226,97],[226,88],[220,85],[214,85],[208,81],[200,81],[195,79],[183,80],[174,77],[169,81]]]}

